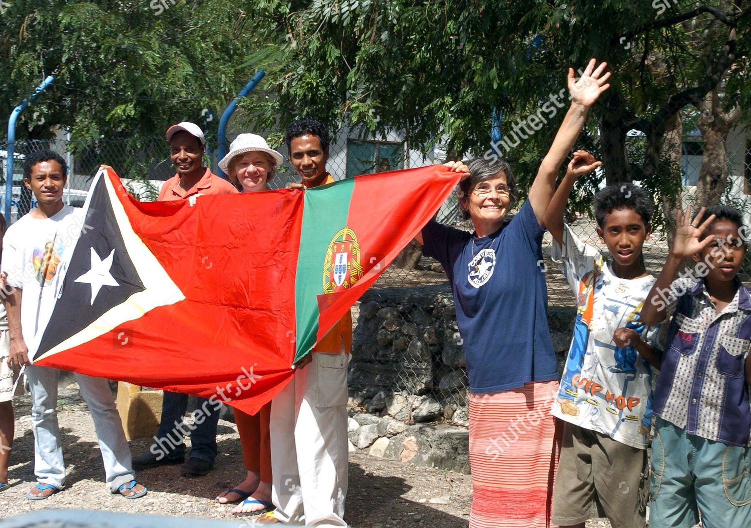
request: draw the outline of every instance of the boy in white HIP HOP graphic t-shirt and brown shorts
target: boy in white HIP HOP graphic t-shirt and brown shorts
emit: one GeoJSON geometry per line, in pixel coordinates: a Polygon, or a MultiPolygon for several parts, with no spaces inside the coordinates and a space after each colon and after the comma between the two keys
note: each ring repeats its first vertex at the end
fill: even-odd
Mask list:
{"type": "Polygon", "coordinates": [[[655,281],[641,248],[654,204],[631,183],[606,187],[595,197],[595,216],[610,258],[579,240],[563,222],[566,200],[576,178],[599,164],[589,152],[575,152],[544,217],[554,239],[551,256],[562,262],[577,296],[574,336],[553,403],[553,415],[565,421],[553,521],[583,527],[590,517],[607,516],[614,528],[643,528],[652,418],[647,361],[658,364],[659,329],[639,319],[655,281]]]}

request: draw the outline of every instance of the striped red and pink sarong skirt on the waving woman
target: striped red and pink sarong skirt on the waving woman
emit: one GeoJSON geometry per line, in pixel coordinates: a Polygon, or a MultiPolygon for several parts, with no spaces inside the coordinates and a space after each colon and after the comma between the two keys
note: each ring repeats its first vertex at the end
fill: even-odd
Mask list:
{"type": "Polygon", "coordinates": [[[558,382],[469,395],[469,528],[549,528],[562,427],[558,382]]]}

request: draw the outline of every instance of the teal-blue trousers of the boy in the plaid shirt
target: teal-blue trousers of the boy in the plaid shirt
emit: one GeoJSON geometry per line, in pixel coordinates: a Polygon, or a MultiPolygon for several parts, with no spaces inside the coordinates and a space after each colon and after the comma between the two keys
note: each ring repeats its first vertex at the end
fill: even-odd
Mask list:
{"type": "Polygon", "coordinates": [[[651,480],[650,528],[751,526],[751,448],[656,418],[651,480]]]}

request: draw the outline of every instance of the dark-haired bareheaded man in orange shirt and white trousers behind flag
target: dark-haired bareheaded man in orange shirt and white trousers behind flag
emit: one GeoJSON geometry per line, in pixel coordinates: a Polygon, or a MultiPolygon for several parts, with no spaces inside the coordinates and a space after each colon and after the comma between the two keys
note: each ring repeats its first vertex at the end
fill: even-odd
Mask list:
{"type": "MultiPolygon", "coordinates": [[[[326,172],[328,131],[312,119],[287,129],[290,160],[303,183],[297,189],[332,183],[326,172]]],[[[276,511],[261,523],[347,526],[349,451],[347,365],[352,316],[347,312],[303,358],[294,379],[271,403],[272,502],[276,511]]]]}

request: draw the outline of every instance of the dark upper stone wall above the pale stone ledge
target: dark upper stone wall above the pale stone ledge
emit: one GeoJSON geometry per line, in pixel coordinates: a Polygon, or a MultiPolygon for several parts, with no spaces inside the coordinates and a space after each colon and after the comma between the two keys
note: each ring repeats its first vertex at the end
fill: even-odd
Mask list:
{"type": "MultiPolygon", "coordinates": [[[[574,307],[549,309],[553,347],[561,361],[574,318],[574,307]]],[[[448,284],[368,291],[356,320],[351,409],[406,424],[467,424],[464,353],[448,284]]]]}

